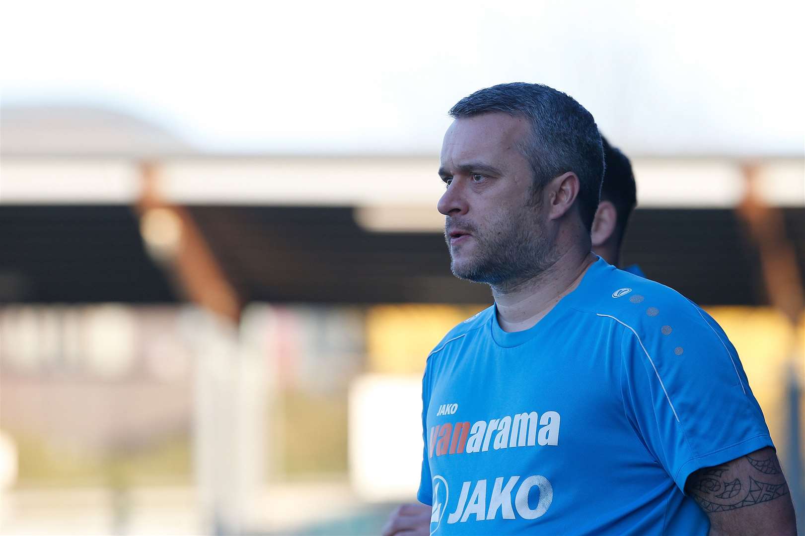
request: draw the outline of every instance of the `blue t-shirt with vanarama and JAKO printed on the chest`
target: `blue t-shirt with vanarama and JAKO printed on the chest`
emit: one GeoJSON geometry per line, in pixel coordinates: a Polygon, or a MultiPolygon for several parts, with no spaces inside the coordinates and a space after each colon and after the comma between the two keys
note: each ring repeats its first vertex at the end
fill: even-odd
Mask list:
{"type": "Polygon", "coordinates": [[[772,446],[725,333],[658,282],[599,258],[533,328],[495,311],[427,358],[431,534],[707,534],[687,476],[772,446]]]}

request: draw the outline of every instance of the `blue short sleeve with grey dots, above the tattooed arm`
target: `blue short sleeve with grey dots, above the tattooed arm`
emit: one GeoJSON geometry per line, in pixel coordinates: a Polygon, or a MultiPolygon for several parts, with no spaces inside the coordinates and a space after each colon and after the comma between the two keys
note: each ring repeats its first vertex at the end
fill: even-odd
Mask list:
{"type": "Polygon", "coordinates": [[[621,322],[621,389],[627,417],[684,491],[691,472],[774,445],[715,320],[692,303],[667,310],[638,327],[621,322]]]}

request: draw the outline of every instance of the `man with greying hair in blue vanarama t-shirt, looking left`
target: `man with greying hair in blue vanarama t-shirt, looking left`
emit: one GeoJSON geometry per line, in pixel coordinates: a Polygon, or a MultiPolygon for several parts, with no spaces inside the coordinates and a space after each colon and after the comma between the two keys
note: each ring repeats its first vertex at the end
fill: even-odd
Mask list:
{"type": "MultiPolygon", "coordinates": [[[[450,111],[438,208],[457,277],[495,303],[423,376],[431,534],[795,534],[732,344],[695,304],[591,252],[603,151],[544,85],[450,111]]],[[[404,534],[403,515],[386,534],[404,534]]]]}

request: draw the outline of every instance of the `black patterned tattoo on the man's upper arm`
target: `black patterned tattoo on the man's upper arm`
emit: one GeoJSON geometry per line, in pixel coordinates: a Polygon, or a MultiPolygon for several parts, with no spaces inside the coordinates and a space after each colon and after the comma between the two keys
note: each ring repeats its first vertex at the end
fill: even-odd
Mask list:
{"type": "Polygon", "coordinates": [[[686,489],[708,513],[758,505],[788,494],[788,484],[774,454],[743,456],[729,464],[702,468],[691,474],[686,489]]]}

